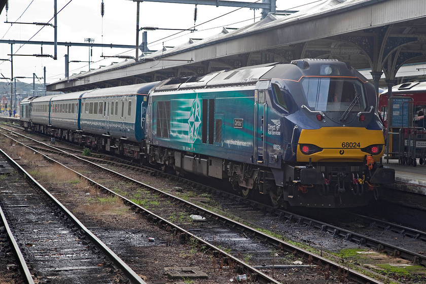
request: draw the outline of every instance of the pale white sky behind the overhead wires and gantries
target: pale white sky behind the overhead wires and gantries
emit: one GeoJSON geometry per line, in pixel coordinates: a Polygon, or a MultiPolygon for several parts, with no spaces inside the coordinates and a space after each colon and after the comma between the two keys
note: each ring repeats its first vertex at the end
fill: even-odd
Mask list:
{"type": "MultiPolygon", "coordinates": [[[[58,42],[84,43],[86,38],[92,38],[95,43],[135,45],[136,43],[136,3],[130,0],[104,0],[105,13],[103,19],[100,15],[101,0],[58,0],[58,42]],[[69,3],[69,4],[68,4],[69,3]],[[65,8],[63,8],[66,6],[65,8]],[[62,11],[60,11],[63,8],[62,11]],[[60,11],[60,12],[59,12],[60,11]],[[103,28],[102,28],[103,26],[103,28]],[[102,37],[103,30],[103,37],[102,37]]],[[[308,3],[317,0],[276,0],[277,10],[303,10],[308,3]]],[[[53,0],[13,0],[9,1],[7,13],[8,22],[48,22],[53,18],[53,0]]],[[[166,4],[166,3],[140,3],[139,27],[154,26],[159,28],[191,28],[194,26],[195,5],[166,4]]],[[[238,8],[197,6],[196,24],[201,24],[221,15],[230,13],[238,8]]],[[[248,8],[232,12],[224,17],[210,21],[196,27],[196,32],[182,32],[171,38],[164,39],[177,31],[155,30],[148,31],[148,48],[158,50],[165,46],[177,46],[186,43],[190,38],[204,39],[221,32],[223,27],[242,27],[260,19],[261,10],[248,8]]],[[[13,24],[6,22],[6,7],[0,15],[0,39],[21,41],[54,41],[54,29],[51,26],[13,24]],[[40,30],[41,29],[41,30],[40,30]],[[39,31],[40,30],[40,31],[39,31]]],[[[54,24],[52,19],[49,23],[54,24]]],[[[142,42],[142,32],[139,32],[139,44],[142,42]]],[[[13,52],[17,54],[41,54],[40,45],[13,45],[13,52]]],[[[10,44],[0,44],[0,58],[10,59],[10,44]]],[[[100,65],[109,65],[111,62],[119,62],[123,59],[107,58],[101,55],[131,55],[135,56],[134,49],[93,48],[91,68],[99,68],[100,65]]],[[[43,46],[43,54],[54,55],[52,45],[43,46]]],[[[46,66],[47,84],[64,78],[66,47],[58,46],[57,60],[49,57],[14,56],[14,77],[30,77],[30,79],[18,79],[19,81],[32,83],[32,74],[39,78],[44,76],[43,67],[46,66]]],[[[139,51],[139,56],[141,52],[139,51]]],[[[69,60],[89,61],[88,47],[70,47],[69,60]]],[[[89,69],[87,62],[69,63],[69,74],[79,73],[89,69]]],[[[0,61],[0,77],[11,77],[10,61],[0,61]],[[2,76],[3,75],[3,76],[2,76]]],[[[1,80],[7,82],[7,80],[1,80]]],[[[37,81],[37,78],[36,78],[37,81]]],[[[43,79],[40,82],[43,84],[43,79]]]]}

